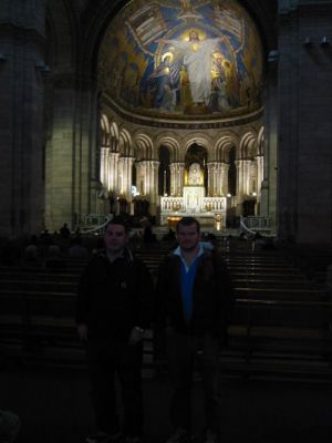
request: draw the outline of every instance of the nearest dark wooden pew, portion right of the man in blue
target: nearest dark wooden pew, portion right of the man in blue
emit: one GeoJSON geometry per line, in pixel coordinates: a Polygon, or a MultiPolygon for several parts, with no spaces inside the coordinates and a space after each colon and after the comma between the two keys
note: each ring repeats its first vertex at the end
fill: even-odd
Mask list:
{"type": "Polygon", "coordinates": [[[332,302],[237,299],[222,370],[332,378],[332,302]]]}

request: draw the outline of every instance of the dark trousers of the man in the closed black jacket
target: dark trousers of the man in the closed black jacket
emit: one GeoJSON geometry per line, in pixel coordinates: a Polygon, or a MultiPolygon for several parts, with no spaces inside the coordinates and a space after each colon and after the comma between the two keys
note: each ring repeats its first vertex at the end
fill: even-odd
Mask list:
{"type": "Polygon", "coordinates": [[[142,342],[127,346],[112,340],[90,339],[86,350],[97,429],[111,435],[121,431],[116,403],[117,374],[124,414],[123,432],[128,436],[141,436],[143,433],[142,342]]]}

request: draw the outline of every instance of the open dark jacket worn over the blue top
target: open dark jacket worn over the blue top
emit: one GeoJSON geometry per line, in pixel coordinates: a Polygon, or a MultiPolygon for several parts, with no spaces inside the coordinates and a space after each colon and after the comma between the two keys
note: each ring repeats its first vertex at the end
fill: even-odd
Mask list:
{"type": "Polygon", "coordinates": [[[180,286],[181,261],[170,254],[160,265],[157,280],[157,324],[178,332],[204,334],[210,332],[221,339],[232,313],[234,293],[230,276],[221,256],[206,250],[198,261],[193,289],[193,317],[184,317],[180,286]]]}

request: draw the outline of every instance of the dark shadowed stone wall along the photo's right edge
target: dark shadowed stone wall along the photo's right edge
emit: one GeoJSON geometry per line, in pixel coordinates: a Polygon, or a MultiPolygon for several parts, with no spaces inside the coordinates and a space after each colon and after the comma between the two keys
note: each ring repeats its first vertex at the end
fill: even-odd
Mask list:
{"type": "Polygon", "coordinates": [[[280,14],[278,231],[331,241],[332,2],[299,3],[280,14]]]}

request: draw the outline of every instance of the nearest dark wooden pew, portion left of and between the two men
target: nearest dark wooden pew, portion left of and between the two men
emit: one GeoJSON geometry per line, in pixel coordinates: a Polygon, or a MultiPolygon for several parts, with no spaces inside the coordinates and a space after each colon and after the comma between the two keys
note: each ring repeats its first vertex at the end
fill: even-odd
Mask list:
{"type": "MultiPolygon", "coordinates": [[[[0,350],[24,364],[82,367],[74,321],[76,295],[49,287],[0,288],[0,350]]],[[[144,377],[153,372],[152,334],[144,339],[144,377]]]]}

